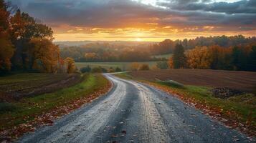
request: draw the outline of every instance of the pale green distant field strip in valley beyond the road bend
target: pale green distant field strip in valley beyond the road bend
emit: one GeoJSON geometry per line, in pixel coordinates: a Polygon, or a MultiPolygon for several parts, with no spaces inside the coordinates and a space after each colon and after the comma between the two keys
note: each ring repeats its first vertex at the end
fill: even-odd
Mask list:
{"type": "MultiPolygon", "coordinates": [[[[153,66],[156,64],[157,61],[144,61],[144,62],[138,62],[140,64],[148,64],[149,66],[153,66]]],[[[103,68],[109,69],[110,67],[120,67],[123,71],[127,70],[129,65],[133,62],[76,62],[75,65],[77,66],[77,69],[81,69],[85,66],[102,66],[103,68]]]]}

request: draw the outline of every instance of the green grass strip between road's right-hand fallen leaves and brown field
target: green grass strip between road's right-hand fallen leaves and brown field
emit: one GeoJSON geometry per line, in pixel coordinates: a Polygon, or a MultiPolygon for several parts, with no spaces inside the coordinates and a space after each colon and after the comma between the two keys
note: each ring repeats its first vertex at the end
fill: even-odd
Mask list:
{"type": "Polygon", "coordinates": [[[254,94],[242,94],[228,99],[219,99],[212,96],[211,87],[199,87],[192,85],[184,85],[183,88],[177,87],[176,84],[166,84],[158,81],[145,81],[140,77],[131,77],[128,73],[117,74],[118,77],[124,79],[139,80],[141,82],[150,82],[156,84],[163,89],[171,89],[176,94],[181,94],[186,98],[194,99],[196,103],[204,104],[212,108],[223,109],[222,115],[229,119],[236,119],[239,122],[246,123],[248,119],[252,119],[250,127],[256,126],[256,96],[254,94]],[[236,114],[228,114],[228,112],[236,114]]]}

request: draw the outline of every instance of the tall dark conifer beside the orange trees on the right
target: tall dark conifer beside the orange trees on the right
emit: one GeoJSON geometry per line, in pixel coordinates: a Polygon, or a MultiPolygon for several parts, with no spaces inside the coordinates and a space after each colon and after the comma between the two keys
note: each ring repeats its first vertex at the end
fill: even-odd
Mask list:
{"type": "Polygon", "coordinates": [[[186,56],[184,54],[184,46],[176,44],[174,49],[174,69],[184,68],[186,66],[186,56]]]}

